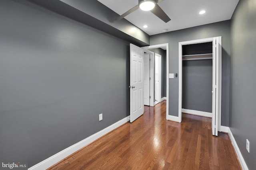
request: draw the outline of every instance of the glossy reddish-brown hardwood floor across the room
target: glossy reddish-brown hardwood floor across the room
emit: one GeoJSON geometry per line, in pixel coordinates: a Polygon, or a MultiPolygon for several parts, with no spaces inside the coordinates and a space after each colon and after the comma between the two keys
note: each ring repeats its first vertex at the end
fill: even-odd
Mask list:
{"type": "Polygon", "coordinates": [[[182,114],[166,121],[166,101],[145,106],[126,123],[48,170],[242,170],[227,134],[212,136],[211,119],[182,114]]]}

